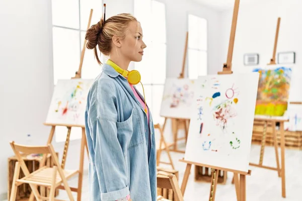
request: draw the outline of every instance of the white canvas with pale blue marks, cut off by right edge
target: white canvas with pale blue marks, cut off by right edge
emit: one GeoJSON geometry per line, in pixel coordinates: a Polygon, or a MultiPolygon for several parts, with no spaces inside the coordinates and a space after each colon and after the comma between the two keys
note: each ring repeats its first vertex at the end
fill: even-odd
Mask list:
{"type": "Polygon", "coordinates": [[[302,131],[302,105],[289,104],[286,114],[289,122],[284,122],[285,131],[302,131]]]}

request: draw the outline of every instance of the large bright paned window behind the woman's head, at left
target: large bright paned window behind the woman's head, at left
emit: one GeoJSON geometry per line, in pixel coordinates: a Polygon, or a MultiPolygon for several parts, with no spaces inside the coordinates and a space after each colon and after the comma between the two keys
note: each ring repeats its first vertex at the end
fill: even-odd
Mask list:
{"type": "MultiPolygon", "coordinates": [[[[58,79],[70,79],[79,69],[90,10],[93,9],[91,25],[102,16],[100,0],[52,0],[53,35],[53,82],[58,79]],[[68,11],[68,12],[66,12],[68,11]]],[[[102,59],[102,58],[100,58],[102,59]]],[[[86,50],[82,65],[82,78],[94,79],[101,66],[94,58],[93,50],[86,50]]],[[[67,129],[56,127],[56,141],[66,139],[67,129]]],[[[72,128],[70,140],[82,138],[81,128],[72,128]]]]}

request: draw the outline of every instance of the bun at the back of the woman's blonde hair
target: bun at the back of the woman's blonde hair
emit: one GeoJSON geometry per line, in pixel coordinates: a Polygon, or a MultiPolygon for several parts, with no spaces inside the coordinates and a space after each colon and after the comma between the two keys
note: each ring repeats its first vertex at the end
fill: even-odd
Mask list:
{"type": "Polygon", "coordinates": [[[92,25],[87,30],[85,39],[87,40],[86,47],[88,49],[94,49],[97,46],[100,34],[102,32],[103,22],[104,20],[101,19],[100,22],[95,25],[92,25]]]}

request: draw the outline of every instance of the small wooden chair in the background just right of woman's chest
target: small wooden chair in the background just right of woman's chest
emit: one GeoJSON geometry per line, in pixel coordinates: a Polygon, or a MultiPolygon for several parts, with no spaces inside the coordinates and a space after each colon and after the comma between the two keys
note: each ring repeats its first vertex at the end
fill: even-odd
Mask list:
{"type": "Polygon", "coordinates": [[[172,161],[172,157],[170,155],[170,150],[169,150],[169,148],[173,145],[173,143],[167,143],[166,142],[165,137],[164,137],[163,129],[162,129],[162,127],[159,124],[154,125],[154,128],[155,129],[159,129],[160,130],[160,134],[161,134],[161,140],[160,140],[160,142],[156,143],[156,145],[157,145],[156,146],[156,149],[157,149],[157,166],[159,166],[160,163],[164,163],[164,164],[171,165],[172,169],[175,169],[173,161],[172,161]],[[165,150],[167,152],[170,162],[161,161],[161,154],[162,154],[163,150],[165,150]]]}

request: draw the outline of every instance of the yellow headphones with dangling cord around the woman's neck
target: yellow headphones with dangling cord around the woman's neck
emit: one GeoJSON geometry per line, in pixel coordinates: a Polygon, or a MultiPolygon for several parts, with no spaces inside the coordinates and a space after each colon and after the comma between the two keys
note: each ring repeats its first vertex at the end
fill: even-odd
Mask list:
{"type": "MultiPolygon", "coordinates": [[[[112,66],[114,68],[114,70],[116,70],[116,72],[118,72],[122,76],[126,77],[126,79],[128,80],[128,82],[130,84],[134,84],[135,85],[135,84],[138,84],[140,82],[140,73],[137,70],[131,70],[130,72],[128,70],[124,70],[121,67],[119,67],[118,65],[116,65],[110,59],[107,60],[107,64],[109,64],[110,66],[112,66]]],[[[146,99],[145,99],[144,89],[143,89],[142,83],[141,83],[141,86],[142,86],[143,98],[144,98],[144,103],[145,103],[144,111],[145,111],[145,113],[147,113],[146,99]]]]}

